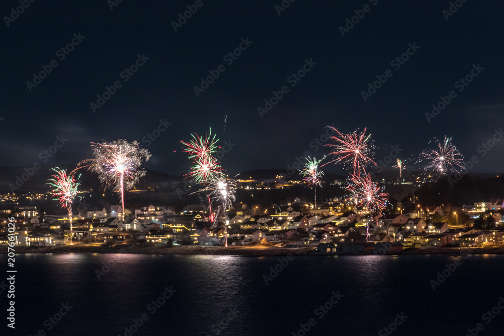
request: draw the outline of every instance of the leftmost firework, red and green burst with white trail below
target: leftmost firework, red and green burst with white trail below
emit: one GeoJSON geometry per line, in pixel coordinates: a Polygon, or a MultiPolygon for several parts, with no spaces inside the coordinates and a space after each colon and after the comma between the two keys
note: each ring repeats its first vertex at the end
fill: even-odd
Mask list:
{"type": "Polygon", "coordinates": [[[52,193],[52,196],[55,197],[52,200],[57,200],[59,205],[62,208],[67,208],[68,218],[70,220],[70,241],[73,244],[72,240],[72,201],[77,196],[78,187],[80,183],[74,178],[72,174],[67,175],[67,171],[64,169],[60,169],[58,167],[52,168],[55,174],[51,175],[47,180],[47,184],[51,186],[49,190],[52,193]]]}

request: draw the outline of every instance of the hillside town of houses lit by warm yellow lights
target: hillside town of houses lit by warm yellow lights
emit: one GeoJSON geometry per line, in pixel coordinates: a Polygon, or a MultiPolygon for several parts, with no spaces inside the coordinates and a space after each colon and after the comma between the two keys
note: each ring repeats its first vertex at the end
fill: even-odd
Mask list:
{"type": "MultiPolygon", "coordinates": [[[[273,188],[289,189],[302,184],[302,181],[277,182],[273,188]]],[[[254,179],[241,180],[239,187],[272,188],[254,179]]],[[[33,203],[42,199],[50,199],[50,194],[0,195],[0,245],[9,243],[9,218],[15,222],[15,245],[37,248],[125,243],[222,246],[226,240],[229,246],[311,247],[318,253],[344,254],[504,244],[502,198],[452,207],[422,205],[412,195],[408,206],[391,205],[388,209],[392,211],[379,215],[371,215],[365,208],[356,207],[351,199],[337,196],[322,199],[317,205],[305,196],[287,197],[267,206],[234,203],[225,213],[220,208],[213,209],[208,201],[180,208],[145,204],[125,211],[115,205],[79,206],[72,216],[72,229],[68,216],[20,205],[24,204],[22,200],[33,203]]]]}

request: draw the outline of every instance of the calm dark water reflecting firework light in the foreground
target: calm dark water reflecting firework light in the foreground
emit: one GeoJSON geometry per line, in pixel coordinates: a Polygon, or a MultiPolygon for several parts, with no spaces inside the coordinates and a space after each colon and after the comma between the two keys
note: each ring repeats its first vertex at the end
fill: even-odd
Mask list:
{"type": "MultiPolygon", "coordinates": [[[[5,274],[7,256],[0,262],[5,274]]],[[[401,324],[391,326],[394,335],[465,335],[477,323],[483,327],[479,335],[504,334],[504,310],[490,321],[482,317],[504,297],[502,255],[294,256],[266,285],[263,274],[275,265],[280,268],[278,257],[20,254],[16,329],[3,322],[1,330],[15,335],[42,329],[47,335],[72,336],[290,336],[303,335],[300,323],[307,328],[312,318],[306,335],[386,335],[381,330],[403,313],[404,322],[397,319],[401,324]],[[115,265],[98,280],[95,271],[111,260],[115,265]],[[433,291],[430,280],[455,260],[461,264],[433,291]],[[159,299],[155,308],[151,302],[165,287],[171,287],[172,296],[159,299]],[[337,303],[327,303],[331,298],[337,303]],[[73,307],[68,313],[61,308],[67,302],[73,307]],[[60,310],[66,315],[57,324],[44,323],[59,319],[60,310]],[[143,325],[125,331],[142,314],[148,318],[143,325]]]]}

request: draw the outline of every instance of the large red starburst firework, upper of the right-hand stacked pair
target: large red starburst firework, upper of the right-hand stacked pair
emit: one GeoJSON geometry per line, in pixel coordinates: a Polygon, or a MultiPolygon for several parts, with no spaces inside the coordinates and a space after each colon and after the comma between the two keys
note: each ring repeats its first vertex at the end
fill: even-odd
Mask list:
{"type": "MultiPolygon", "coordinates": [[[[330,127],[330,126],[329,126],[330,127]]],[[[328,144],[324,146],[333,147],[333,151],[329,154],[334,157],[334,160],[323,164],[325,166],[329,163],[344,163],[353,166],[353,174],[360,175],[361,169],[365,172],[365,167],[368,163],[376,163],[369,158],[373,155],[374,149],[372,143],[369,141],[371,135],[365,136],[366,128],[361,133],[357,129],[353,133],[342,134],[336,128],[330,127],[338,133],[336,137],[329,137],[335,144],[328,144]]]]}

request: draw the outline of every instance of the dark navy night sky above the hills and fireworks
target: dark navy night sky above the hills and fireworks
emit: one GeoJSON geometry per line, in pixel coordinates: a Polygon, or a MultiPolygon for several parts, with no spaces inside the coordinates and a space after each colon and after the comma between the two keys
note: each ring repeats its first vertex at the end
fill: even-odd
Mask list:
{"type": "MultiPolygon", "coordinates": [[[[408,159],[431,138],[446,135],[466,160],[478,156],[473,171],[502,171],[504,141],[484,157],[478,152],[504,126],[500,1],[460,1],[463,6],[446,20],[448,1],[298,0],[278,15],[280,0],[203,0],[176,32],[171,22],[194,1],[122,0],[113,10],[109,3],[39,0],[8,20],[9,27],[4,17],[0,165],[41,162],[39,153],[63,135],[68,141],[46,164],[76,164],[91,157],[90,142],[126,139],[151,151],[146,168],[179,174],[190,163],[179,141],[212,127],[221,145],[234,144],[220,155],[230,173],[286,168],[305,151],[328,153],[310,143],[334,124],[343,132],[367,127],[376,160],[393,145],[408,159]],[[364,17],[342,36],[339,27],[364,5],[369,11],[358,12],[364,17]],[[85,38],[61,60],[56,52],[74,33],[85,38]],[[228,65],[223,57],[242,38],[252,43],[228,65]],[[391,61],[409,43],[419,49],[396,70],[391,61]],[[124,82],[120,74],[137,55],[148,60],[124,82]],[[27,81],[53,59],[57,66],[30,92],[27,81]],[[288,77],[305,59],[316,65],[292,87],[288,77]],[[197,96],[200,78],[220,64],[225,71],[197,96]],[[459,92],[455,83],[473,64],[484,70],[459,92]],[[392,77],[364,102],[361,91],[388,69],[392,77]],[[115,81],[121,87],[93,112],[90,103],[115,81]],[[261,117],[258,107],[282,86],[288,93],[261,117]],[[425,113],[452,90],[456,98],[428,122],[425,113]],[[142,139],[160,119],[171,125],[148,146],[142,139]]],[[[18,6],[4,1],[0,13],[10,16],[18,6]]]]}

